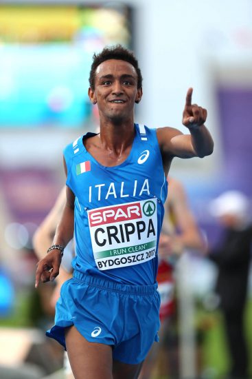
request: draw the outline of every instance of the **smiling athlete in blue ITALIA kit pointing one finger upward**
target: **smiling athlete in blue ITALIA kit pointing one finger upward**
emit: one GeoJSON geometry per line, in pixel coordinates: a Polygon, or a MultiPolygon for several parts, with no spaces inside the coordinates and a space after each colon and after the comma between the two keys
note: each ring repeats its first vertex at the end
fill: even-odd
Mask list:
{"type": "Polygon", "coordinates": [[[73,278],[62,285],[47,335],[67,349],[76,379],[131,379],[158,339],[157,245],[170,164],[209,155],[214,143],[192,88],[183,111],[190,134],[134,123],[141,71],[120,45],[94,54],[89,83],[100,133],[65,148],[67,203],[35,286],[56,278],[74,233],[73,278]]]}

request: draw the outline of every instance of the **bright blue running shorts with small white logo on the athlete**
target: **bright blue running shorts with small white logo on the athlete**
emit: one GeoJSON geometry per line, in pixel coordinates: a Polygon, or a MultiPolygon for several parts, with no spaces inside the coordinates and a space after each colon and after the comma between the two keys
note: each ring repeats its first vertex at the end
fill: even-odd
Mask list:
{"type": "Polygon", "coordinates": [[[160,296],[154,285],[126,285],[74,272],[61,288],[55,325],[47,336],[65,347],[74,325],[89,342],[113,347],[113,359],[135,365],[159,341],[160,296]]]}

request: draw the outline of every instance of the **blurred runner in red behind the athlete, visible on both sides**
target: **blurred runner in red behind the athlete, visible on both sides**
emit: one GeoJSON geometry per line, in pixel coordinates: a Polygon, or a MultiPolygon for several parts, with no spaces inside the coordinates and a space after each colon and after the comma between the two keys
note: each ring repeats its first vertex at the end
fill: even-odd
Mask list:
{"type": "MultiPolygon", "coordinates": [[[[202,252],[205,250],[203,238],[198,230],[194,215],[188,205],[187,196],[183,185],[174,178],[169,176],[169,196],[165,201],[165,218],[161,236],[159,238],[159,267],[157,273],[157,282],[159,294],[161,296],[161,306],[159,315],[161,319],[161,327],[159,329],[160,344],[152,345],[148,357],[141,369],[140,377],[148,379],[152,376],[152,371],[155,369],[157,356],[159,352],[166,349],[165,336],[172,328],[172,320],[174,318],[174,264],[170,260],[178,258],[185,248],[194,249],[202,252]],[[160,346],[159,346],[160,345],[160,346]]],[[[33,238],[34,251],[38,258],[43,258],[45,251],[54,238],[55,230],[58,221],[64,209],[66,201],[65,187],[62,188],[60,194],[51,208],[51,211],[41,225],[36,230],[33,238]]],[[[67,245],[64,250],[64,256],[60,265],[60,273],[56,278],[56,287],[51,296],[51,306],[55,307],[56,301],[60,296],[60,287],[65,280],[71,278],[71,261],[73,260],[72,243],[67,245]],[[70,245],[70,246],[69,246],[70,245]]],[[[166,351],[165,351],[166,353],[166,351]]],[[[172,351],[169,347],[169,357],[172,351]]],[[[167,368],[166,374],[171,373],[170,359],[165,358],[167,368]]],[[[73,378],[69,360],[65,356],[65,376],[73,378]]]]}

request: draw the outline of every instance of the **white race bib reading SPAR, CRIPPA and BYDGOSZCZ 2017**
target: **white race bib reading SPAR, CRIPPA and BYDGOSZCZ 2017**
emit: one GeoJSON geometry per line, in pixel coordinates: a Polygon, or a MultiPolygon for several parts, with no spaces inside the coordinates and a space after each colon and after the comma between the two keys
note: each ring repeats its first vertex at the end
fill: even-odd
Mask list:
{"type": "Polygon", "coordinates": [[[157,247],[157,198],[88,212],[93,256],[100,270],[139,265],[157,247]]]}

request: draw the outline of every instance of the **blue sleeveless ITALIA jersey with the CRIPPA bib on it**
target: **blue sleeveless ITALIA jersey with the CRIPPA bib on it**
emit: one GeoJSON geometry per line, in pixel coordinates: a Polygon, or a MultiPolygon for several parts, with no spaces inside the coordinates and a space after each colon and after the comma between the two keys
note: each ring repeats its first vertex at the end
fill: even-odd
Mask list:
{"type": "Polygon", "coordinates": [[[135,124],[130,154],[114,167],[87,152],[83,139],[90,136],[64,150],[67,185],[76,196],[73,269],[117,283],[153,284],[168,192],[157,132],[135,124]]]}

